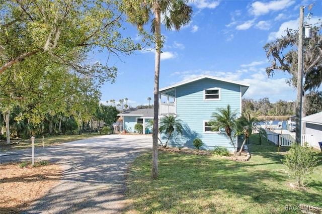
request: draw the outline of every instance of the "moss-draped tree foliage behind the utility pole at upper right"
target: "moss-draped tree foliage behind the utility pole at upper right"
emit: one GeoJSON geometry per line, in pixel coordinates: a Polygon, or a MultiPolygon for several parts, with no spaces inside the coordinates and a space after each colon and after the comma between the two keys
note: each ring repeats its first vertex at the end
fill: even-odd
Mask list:
{"type": "MultiPolygon", "coordinates": [[[[303,42],[305,49],[303,57],[304,92],[317,89],[322,82],[322,49],[319,45],[322,42],[321,28],[322,25],[311,28],[311,38],[305,39],[303,42]]],[[[288,83],[296,87],[298,30],[288,29],[286,33],[285,37],[278,38],[264,46],[267,58],[271,62],[271,66],[266,68],[266,73],[272,76],[275,70],[288,72],[292,75],[288,83]]]]}

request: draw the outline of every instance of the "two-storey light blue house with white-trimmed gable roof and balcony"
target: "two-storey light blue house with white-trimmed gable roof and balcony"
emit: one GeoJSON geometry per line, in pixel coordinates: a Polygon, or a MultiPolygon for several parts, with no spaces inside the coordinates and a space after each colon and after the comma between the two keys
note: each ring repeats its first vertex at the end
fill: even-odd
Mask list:
{"type": "MultiPolygon", "coordinates": [[[[246,83],[201,76],[159,89],[159,117],[176,115],[184,126],[183,136],[173,136],[168,145],[193,148],[193,140],[200,138],[204,143],[202,149],[223,146],[233,151],[227,136],[220,131],[211,131],[208,122],[213,112],[227,108],[228,104],[241,115],[241,97],[248,88],[246,83]]],[[[165,140],[166,136],[160,138],[165,140]]]]}

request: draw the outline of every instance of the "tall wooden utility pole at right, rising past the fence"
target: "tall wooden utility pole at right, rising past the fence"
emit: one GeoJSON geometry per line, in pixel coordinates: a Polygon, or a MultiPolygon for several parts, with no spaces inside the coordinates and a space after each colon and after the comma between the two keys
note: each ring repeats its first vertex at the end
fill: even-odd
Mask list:
{"type": "Polygon", "coordinates": [[[297,67],[297,97],[296,97],[296,128],[295,141],[302,141],[302,95],[303,95],[303,24],[304,7],[300,7],[300,21],[298,29],[298,67],[297,67]]]}

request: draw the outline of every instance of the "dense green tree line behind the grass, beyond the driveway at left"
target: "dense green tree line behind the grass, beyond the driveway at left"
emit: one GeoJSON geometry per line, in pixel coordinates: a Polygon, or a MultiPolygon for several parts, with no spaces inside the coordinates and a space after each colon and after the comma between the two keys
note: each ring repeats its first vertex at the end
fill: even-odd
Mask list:
{"type": "MultiPolygon", "coordinates": [[[[79,121],[78,117],[72,114],[44,114],[44,119],[40,123],[23,118],[22,115],[32,114],[32,109],[22,109],[17,105],[9,116],[10,139],[26,139],[30,136],[50,136],[61,134],[81,134],[85,132],[97,132],[100,128],[111,127],[117,121],[120,112],[115,106],[111,105],[93,105],[93,114],[84,121],[79,121]],[[104,122],[104,124],[99,122],[104,122]],[[94,122],[97,125],[94,125],[94,122]]],[[[0,117],[0,139],[6,140],[7,130],[6,117],[7,114],[2,114],[0,117]]],[[[10,142],[9,142],[10,143],[10,142]]]]}

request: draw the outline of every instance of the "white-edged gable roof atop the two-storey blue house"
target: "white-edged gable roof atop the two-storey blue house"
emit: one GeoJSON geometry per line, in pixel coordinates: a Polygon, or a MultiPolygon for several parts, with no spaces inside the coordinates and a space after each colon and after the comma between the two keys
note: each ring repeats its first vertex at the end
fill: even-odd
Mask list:
{"type": "Polygon", "coordinates": [[[219,81],[223,81],[223,82],[228,82],[228,83],[240,85],[240,87],[241,87],[241,96],[243,96],[244,93],[247,91],[247,89],[250,87],[250,84],[248,84],[248,83],[237,82],[237,81],[233,81],[233,80],[229,80],[229,79],[223,79],[223,78],[219,78],[219,77],[204,75],[204,76],[199,76],[197,78],[189,79],[189,80],[186,80],[186,81],[178,82],[178,83],[176,83],[174,85],[170,85],[168,87],[160,88],[159,89],[159,92],[166,91],[166,90],[169,90],[169,89],[173,89],[175,87],[178,87],[178,86],[181,86],[181,85],[185,85],[185,84],[188,84],[190,82],[194,82],[194,81],[197,81],[197,80],[200,80],[200,79],[205,79],[205,78],[214,79],[214,80],[219,80],[219,81]]]}

